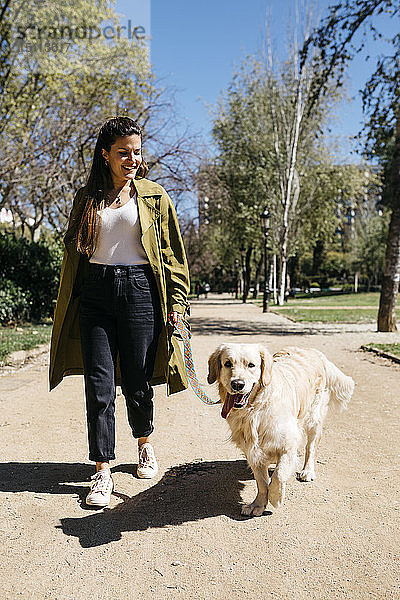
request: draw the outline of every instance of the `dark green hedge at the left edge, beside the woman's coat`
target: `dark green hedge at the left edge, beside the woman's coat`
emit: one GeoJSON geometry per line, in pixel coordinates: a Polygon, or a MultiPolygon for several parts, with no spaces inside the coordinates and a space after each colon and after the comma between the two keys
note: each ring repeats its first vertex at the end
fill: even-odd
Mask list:
{"type": "MultiPolygon", "coordinates": [[[[57,244],[29,242],[12,234],[0,235],[0,289],[6,294],[5,281],[11,281],[29,302],[24,318],[39,321],[52,314],[57,296],[61,265],[61,249],[57,244]]],[[[17,292],[16,292],[17,293],[17,292]]],[[[19,320],[19,313],[17,318],[19,320]]]]}

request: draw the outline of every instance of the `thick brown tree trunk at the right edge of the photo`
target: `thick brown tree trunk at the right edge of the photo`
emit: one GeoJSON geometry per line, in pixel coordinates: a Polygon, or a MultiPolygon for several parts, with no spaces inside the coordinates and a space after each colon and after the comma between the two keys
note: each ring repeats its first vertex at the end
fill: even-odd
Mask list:
{"type": "Polygon", "coordinates": [[[391,168],[392,216],[386,245],[385,269],[379,299],[378,331],[397,331],[396,301],[400,282],[400,115],[391,168]]]}

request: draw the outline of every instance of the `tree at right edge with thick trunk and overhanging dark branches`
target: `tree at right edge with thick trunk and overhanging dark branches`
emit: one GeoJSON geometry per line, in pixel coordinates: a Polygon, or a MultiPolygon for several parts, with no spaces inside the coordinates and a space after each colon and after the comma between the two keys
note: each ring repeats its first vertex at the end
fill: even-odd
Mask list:
{"type": "MultiPolygon", "coordinates": [[[[392,0],[346,0],[331,7],[302,50],[302,61],[314,54],[314,64],[319,78],[313,88],[313,101],[309,110],[326,93],[327,85],[334,81],[342,85],[345,68],[354,56],[363,51],[367,32],[373,37],[383,37],[375,25],[381,14],[395,17],[400,6],[392,0]]],[[[378,331],[396,331],[396,301],[400,281],[400,34],[390,40],[391,51],[375,65],[363,91],[367,115],[366,153],[382,157],[390,142],[392,155],[390,171],[384,182],[390,190],[391,219],[386,244],[385,268],[378,312],[378,331]]]]}

